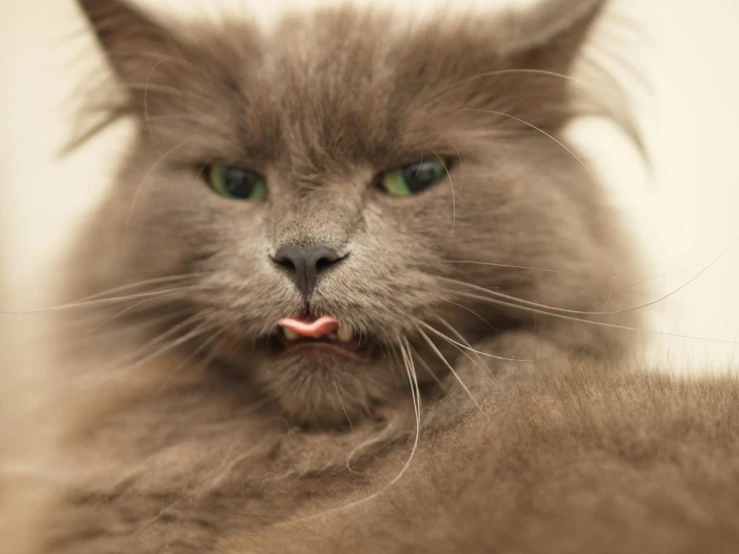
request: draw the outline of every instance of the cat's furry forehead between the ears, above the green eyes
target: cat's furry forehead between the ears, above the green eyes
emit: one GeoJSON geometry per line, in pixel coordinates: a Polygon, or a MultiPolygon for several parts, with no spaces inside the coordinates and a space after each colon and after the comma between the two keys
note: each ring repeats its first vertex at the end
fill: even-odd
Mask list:
{"type": "Polygon", "coordinates": [[[243,99],[247,130],[271,127],[274,151],[322,171],[448,148],[455,86],[488,67],[462,56],[476,40],[467,23],[441,32],[438,19],[409,25],[347,8],[284,18],[260,37],[255,59],[233,68],[244,94],[232,109],[243,99]]]}

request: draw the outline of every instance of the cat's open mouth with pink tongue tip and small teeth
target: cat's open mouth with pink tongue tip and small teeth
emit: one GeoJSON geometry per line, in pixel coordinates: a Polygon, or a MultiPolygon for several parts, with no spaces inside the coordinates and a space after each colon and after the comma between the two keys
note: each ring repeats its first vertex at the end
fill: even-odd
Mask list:
{"type": "Polygon", "coordinates": [[[360,343],[354,330],[331,316],[283,318],[273,338],[282,352],[311,358],[338,356],[365,362],[370,357],[368,346],[360,343]]]}

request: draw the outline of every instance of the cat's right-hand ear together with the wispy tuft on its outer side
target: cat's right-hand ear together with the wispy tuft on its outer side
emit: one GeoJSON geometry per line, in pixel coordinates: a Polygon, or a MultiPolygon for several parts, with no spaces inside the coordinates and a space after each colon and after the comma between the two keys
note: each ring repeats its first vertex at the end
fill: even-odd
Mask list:
{"type": "Polygon", "coordinates": [[[498,86],[521,93],[513,104],[523,106],[530,123],[553,131],[574,116],[603,116],[646,155],[623,83],[585,52],[609,5],[610,0],[540,0],[501,14],[496,48],[506,67],[529,74],[503,77],[498,86]],[[575,76],[574,66],[583,60],[587,78],[575,76]]]}

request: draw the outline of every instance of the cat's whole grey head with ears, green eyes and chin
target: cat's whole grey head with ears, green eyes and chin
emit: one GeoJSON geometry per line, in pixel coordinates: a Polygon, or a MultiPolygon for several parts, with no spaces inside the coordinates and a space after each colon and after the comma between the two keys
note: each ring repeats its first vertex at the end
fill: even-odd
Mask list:
{"type": "MultiPolygon", "coordinates": [[[[297,421],[407,394],[403,349],[426,381],[467,340],[551,323],[475,287],[599,310],[629,272],[556,138],[602,1],[416,23],[335,9],[269,32],[79,3],[139,127],[79,279],[191,275],[172,298],[199,354],[297,421]]],[[[582,327],[568,347],[617,349],[582,327]]]]}

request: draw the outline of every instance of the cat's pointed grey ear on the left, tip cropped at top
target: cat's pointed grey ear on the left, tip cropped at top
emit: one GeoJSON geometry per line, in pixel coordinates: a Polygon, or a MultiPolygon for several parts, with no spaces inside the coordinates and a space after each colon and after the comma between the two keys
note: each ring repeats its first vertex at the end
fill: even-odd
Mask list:
{"type": "Polygon", "coordinates": [[[170,31],[125,0],[77,0],[117,77],[125,83],[147,81],[152,69],[178,44],[170,31]]]}

